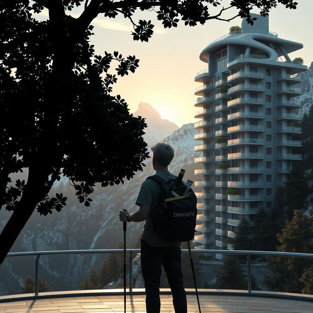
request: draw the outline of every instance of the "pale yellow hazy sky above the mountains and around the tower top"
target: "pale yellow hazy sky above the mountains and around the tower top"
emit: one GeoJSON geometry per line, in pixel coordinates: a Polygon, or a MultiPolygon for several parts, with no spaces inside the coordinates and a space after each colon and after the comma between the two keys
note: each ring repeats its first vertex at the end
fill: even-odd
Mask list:
{"type": "MultiPolygon", "coordinates": [[[[303,43],[304,48],[292,53],[291,58],[302,57],[305,65],[310,66],[313,61],[313,0],[298,0],[298,3],[296,10],[285,9],[281,4],[273,9],[269,14],[269,30],[278,33],[280,38],[303,43]]],[[[206,67],[199,60],[199,54],[210,42],[226,34],[230,26],[240,25],[241,19],[212,20],[195,27],[181,23],[171,29],[164,29],[161,22],[156,21],[155,12],[140,12],[134,18],[138,19],[152,20],[155,24],[155,34],[148,43],[134,42],[130,34],[132,25],[122,17],[113,20],[99,16],[92,23],[95,34],[91,42],[97,54],[118,50],[124,56],[135,55],[140,60],[134,74],[119,78],[114,84],[113,93],[127,101],[131,112],[137,110],[139,102],[147,102],[163,118],[178,126],[194,122],[194,112],[199,110],[194,107],[197,98],[194,89],[201,85],[194,82],[194,77],[206,67]]]]}

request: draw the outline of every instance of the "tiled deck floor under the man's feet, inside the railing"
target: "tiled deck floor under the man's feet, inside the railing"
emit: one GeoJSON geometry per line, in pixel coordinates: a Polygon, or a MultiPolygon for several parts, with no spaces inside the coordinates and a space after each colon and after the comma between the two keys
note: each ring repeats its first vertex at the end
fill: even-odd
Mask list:
{"type": "MultiPolygon", "coordinates": [[[[187,295],[188,313],[198,312],[197,298],[187,295]]],[[[0,313],[124,312],[123,296],[84,296],[0,303],[0,313]]],[[[200,295],[203,313],[313,313],[313,302],[257,296],[200,295]]],[[[145,297],[127,296],[127,313],[143,313],[145,297]]],[[[161,313],[174,313],[172,296],[161,296],[161,313]]]]}

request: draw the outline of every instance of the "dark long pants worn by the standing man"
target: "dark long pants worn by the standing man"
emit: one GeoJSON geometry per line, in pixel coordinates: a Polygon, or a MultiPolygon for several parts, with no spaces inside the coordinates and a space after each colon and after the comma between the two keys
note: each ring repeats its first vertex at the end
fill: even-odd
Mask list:
{"type": "Polygon", "coordinates": [[[160,312],[161,265],[165,270],[173,294],[175,313],[187,313],[180,247],[154,247],[141,240],[141,270],[145,281],[147,313],[160,312]]]}

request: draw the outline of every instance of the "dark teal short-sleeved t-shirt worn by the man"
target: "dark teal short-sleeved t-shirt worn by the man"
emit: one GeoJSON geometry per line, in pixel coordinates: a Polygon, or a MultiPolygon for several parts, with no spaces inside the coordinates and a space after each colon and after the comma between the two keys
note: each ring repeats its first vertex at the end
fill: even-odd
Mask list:
{"type": "MultiPolygon", "coordinates": [[[[175,175],[169,171],[158,171],[157,176],[161,177],[165,181],[170,179],[176,179],[175,175]]],[[[160,185],[153,179],[145,180],[140,188],[136,204],[146,205],[150,207],[150,210],[157,210],[158,197],[160,192],[160,185]]],[[[148,243],[150,246],[164,247],[164,246],[180,246],[180,242],[169,242],[162,239],[155,231],[150,215],[146,219],[146,223],[143,227],[141,239],[148,243]]]]}

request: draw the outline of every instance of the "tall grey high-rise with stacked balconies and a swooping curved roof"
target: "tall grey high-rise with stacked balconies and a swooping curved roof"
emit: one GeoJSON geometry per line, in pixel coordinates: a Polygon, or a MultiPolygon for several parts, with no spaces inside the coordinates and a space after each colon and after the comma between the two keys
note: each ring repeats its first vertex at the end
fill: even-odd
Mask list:
{"type": "Polygon", "coordinates": [[[301,160],[301,104],[294,97],[301,94],[296,74],[307,67],[288,54],[303,45],[269,32],[268,17],[253,16],[253,26],[243,20],[242,30],[200,54],[207,68],[195,77],[202,83],[195,90],[199,248],[231,249],[226,238],[234,237],[240,220],[253,222],[269,208],[293,162],[301,160]]]}

